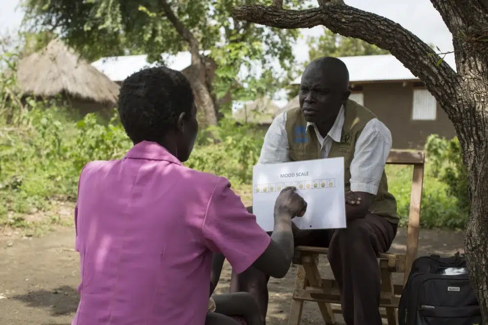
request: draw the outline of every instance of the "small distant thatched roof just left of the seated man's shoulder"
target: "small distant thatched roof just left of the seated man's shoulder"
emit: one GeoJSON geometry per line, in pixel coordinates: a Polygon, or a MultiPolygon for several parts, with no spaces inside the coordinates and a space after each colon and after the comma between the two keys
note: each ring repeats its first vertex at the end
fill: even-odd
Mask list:
{"type": "Polygon", "coordinates": [[[243,123],[271,124],[279,107],[266,97],[248,101],[234,113],[234,119],[243,123]]]}

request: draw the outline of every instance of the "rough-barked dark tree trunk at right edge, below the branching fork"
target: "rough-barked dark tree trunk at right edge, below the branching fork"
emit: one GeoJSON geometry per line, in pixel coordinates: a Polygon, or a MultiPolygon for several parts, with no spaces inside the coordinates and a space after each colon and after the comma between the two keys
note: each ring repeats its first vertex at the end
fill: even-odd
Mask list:
{"type": "Polygon", "coordinates": [[[466,225],[464,245],[471,284],[476,291],[488,323],[488,151],[486,135],[488,112],[488,62],[479,80],[461,82],[458,101],[459,114],[451,117],[460,141],[463,161],[470,184],[471,215],[466,225]]]}

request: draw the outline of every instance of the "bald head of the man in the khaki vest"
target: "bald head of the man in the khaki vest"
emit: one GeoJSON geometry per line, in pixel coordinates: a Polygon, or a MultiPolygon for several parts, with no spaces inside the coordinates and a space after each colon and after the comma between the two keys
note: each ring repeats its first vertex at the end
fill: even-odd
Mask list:
{"type": "Polygon", "coordinates": [[[339,59],[319,58],[305,68],[299,99],[307,122],[335,121],[350,94],[349,71],[339,59]]]}

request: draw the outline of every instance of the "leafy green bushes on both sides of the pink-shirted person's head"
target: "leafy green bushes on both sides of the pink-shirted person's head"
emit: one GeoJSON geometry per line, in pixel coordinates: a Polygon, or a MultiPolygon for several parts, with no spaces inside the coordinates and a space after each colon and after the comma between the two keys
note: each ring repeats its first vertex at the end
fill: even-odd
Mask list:
{"type": "MultiPolygon", "coordinates": [[[[120,158],[132,145],[116,112],[105,123],[94,114],[81,121],[67,116],[66,109],[50,102],[32,102],[15,124],[0,124],[0,226],[16,224],[17,214],[48,208],[55,196],[74,200],[88,161],[120,158]]],[[[253,137],[249,126],[235,126],[230,117],[210,131],[213,141],[201,140],[185,165],[226,176],[233,184],[249,183],[262,138],[253,137]]]]}

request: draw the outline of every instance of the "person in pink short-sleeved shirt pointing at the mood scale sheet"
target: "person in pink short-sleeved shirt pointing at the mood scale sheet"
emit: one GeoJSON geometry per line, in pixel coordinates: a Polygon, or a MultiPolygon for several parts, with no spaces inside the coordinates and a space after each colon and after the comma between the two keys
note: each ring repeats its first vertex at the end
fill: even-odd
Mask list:
{"type": "Polygon", "coordinates": [[[275,204],[270,238],[223,177],[188,169],[198,133],[188,80],[151,68],[122,84],[118,110],[134,146],[120,160],[82,170],[75,209],[80,303],[73,325],[233,324],[207,314],[213,253],[234,272],[276,278],[291,264],[295,189],[275,204]]]}

